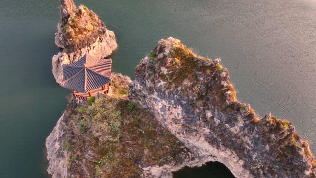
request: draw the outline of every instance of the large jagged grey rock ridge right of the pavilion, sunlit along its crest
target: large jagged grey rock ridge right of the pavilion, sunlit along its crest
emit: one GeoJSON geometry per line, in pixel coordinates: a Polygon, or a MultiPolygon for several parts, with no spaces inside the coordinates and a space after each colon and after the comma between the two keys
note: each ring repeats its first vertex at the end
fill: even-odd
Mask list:
{"type": "MultiPolygon", "coordinates": [[[[162,39],[136,67],[129,99],[194,154],[183,165],[219,161],[237,178],[314,178],[316,161],[294,126],[271,114],[260,119],[249,104],[238,102],[220,63],[197,56],[178,39],[162,39]]],[[[159,177],[177,166],[147,172],[159,177]]]]}

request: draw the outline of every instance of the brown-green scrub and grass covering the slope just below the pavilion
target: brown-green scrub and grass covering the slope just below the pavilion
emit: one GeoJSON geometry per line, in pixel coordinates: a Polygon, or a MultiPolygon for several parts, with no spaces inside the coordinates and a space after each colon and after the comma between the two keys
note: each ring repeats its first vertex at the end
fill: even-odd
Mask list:
{"type": "Polygon", "coordinates": [[[139,178],[142,174],[139,164],[149,166],[183,161],[180,153],[184,145],[137,104],[105,96],[84,107],[84,114],[79,114],[78,106],[69,112],[70,115],[76,112],[83,119],[70,117],[68,142],[76,143],[76,146],[68,153],[72,160],[85,159],[91,152],[97,159],[95,163],[87,163],[84,173],[79,169],[80,162],[72,161],[70,166],[75,177],[84,174],[87,177],[139,178]],[[85,126],[85,121],[85,134],[73,132],[85,126]]]}

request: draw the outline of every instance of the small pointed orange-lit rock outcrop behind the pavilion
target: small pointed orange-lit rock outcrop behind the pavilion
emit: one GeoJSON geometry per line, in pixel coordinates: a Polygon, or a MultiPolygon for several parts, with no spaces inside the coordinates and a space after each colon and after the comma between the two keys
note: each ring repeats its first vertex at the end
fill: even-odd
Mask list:
{"type": "Polygon", "coordinates": [[[117,47],[114,32],[108,30],[100,17],[84,5],[76,8],[73,0],[59,0],[61,21],[55,44],[62,50],[52,58],[52,73],[57,83],[63,79],[62,64],[79,60],[87,51],[105,58],[117,47]]]}

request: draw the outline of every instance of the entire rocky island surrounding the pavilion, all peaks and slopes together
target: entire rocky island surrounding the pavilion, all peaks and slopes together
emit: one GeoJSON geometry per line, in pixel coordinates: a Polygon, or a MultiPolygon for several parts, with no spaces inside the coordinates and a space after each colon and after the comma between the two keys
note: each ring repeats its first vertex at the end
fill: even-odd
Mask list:
{"type": "MultiPolygon", "coordinates": [[[[86,51],[105,58],[117,48],[93,11],[72,0],[60,4],[58,83],[62,64],[86,51]]],[[[53,178],[171,178],[209,161],[237,178],[316,177],[316,160],[295,127],[272,114],[259,118],[236,99],[221,59],[198,56],[178,39],[161,39],[137,65],[134,81],[113,73],[109,94],[96,98],[70,98],[47,138],[53,178]]]]}

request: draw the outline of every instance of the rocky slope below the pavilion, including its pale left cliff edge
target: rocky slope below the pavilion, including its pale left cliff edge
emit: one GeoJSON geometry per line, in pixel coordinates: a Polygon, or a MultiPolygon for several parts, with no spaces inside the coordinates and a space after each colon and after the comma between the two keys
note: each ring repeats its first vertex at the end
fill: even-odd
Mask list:
{"type": "Polygon", "coordinates": [[[53,178],[172,177],[160,167],[172,165],[175,171],[185,166],[184,161],[195,161],[151,113],[128,102],[130,82],[129,77],[114,74],[110,96],[93,104],[70,100],[46,140],[53,178]]]}

